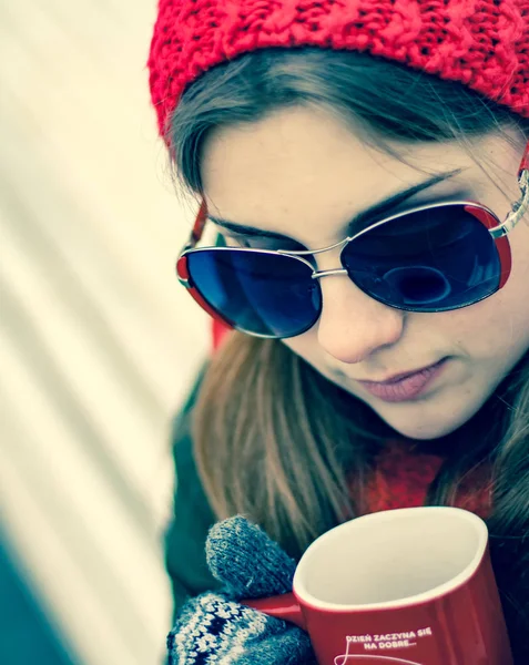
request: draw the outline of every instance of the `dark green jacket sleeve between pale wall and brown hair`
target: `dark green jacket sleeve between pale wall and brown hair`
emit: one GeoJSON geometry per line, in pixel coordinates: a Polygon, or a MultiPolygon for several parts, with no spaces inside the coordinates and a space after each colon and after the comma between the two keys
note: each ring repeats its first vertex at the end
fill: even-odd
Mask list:
{"type": "Polygon", "coordinates": [[[191,439],[191,412],[204,371],[173,426],[176,491],[174,519],[165,532],[165,566],[173,586],[175,614],[187,596],[217,587],[204,555],[207,531],[215,520],[196,471],[191,439]]]}

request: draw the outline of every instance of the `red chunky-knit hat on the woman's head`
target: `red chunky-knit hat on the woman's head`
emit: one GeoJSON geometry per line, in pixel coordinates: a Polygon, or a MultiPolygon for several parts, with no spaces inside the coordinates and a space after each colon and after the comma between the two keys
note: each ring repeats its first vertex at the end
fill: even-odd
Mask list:
{"type": "Polygon", "coordinates": [[[529,116],[529,0],[159,0],[147,65],[160,132],[202,72],[301,45],[368,51],[529,116]]]}

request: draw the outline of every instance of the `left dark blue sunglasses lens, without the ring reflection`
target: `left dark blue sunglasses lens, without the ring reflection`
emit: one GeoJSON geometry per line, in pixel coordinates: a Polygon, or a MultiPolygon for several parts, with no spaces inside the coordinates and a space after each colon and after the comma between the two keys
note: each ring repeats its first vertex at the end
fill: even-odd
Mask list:
{"type": "Polygon", "coordinates": [[[311,267],[292,256],[200,249],[189,254],[187,268],[202,297],[245,332],[294,337],[319,317],[319,285],[311,267]]]}

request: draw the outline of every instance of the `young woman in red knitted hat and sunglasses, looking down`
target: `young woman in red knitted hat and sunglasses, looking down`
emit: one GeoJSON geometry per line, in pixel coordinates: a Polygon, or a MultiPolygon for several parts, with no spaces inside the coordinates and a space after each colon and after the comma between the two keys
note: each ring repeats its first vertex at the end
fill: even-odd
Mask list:
{"type": "Polygon", "coordinates": [[[529,2],[161,0],[149,65],[200,202],[179,277],[235,328],[176,421],[176,608],[230,515],[296,560],[451,504],[528,663],[529,2]]]}

